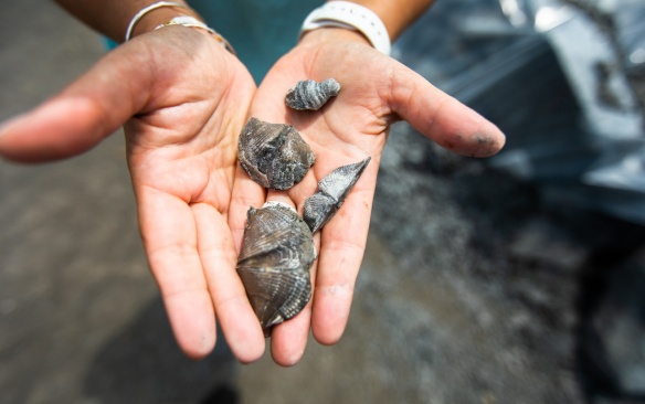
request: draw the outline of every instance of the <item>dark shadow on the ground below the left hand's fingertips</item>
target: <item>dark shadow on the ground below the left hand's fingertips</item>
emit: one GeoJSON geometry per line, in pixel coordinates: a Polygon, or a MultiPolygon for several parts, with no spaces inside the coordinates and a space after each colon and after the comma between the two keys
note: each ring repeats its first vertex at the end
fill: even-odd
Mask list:
{"type": "Polygon", "coordinates": [[[147,304],[92,359],[84,395],[105,404],[239,402],[239,363],[222,334],[207,359],[191,361],[178,349],[160,299],[147,304]]]}

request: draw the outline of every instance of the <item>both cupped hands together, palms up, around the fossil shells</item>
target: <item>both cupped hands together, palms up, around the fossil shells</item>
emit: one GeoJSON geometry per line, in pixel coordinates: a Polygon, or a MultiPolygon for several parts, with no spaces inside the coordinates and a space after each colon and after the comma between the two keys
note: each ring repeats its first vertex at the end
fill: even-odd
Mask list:
{"type": "Polygon", "coordinates": [[[322,177],[370,156],[339,217],[315,235],[311,301],[273,329],[273,359],[290,365],[302,358],[309,329],[324,344],[342,334],[381,152],[400,119],[467,156],[491,156],[504,145],[493,124],[356,32],[307,33],[256,88],[205,31],[169,26],[117,47],[61,94],[3,125],[0,155],[23,162],[66,158],[124,126],[141,236],[177,341],[191,358],[207,355],[216,319],[242,362],[265,349],[235,270],[249,208],[282,201],[302,214],[322,177]],[[342,91],[321,110],[285,107],[297,81],[329,77],[342,91]],[[237,137],[250,116],[294,125],[315,152],[316,163],[290,190],[267,192],[237,164],[237,137]]]}

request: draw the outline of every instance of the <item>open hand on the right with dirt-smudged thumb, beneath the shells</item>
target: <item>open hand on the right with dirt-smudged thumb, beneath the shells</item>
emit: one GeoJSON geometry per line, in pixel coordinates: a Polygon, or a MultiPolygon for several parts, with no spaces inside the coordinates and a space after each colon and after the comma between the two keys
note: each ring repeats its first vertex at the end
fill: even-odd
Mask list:
{"type": "Polygon", "coordinates": [[[267,192],[237,168],[229,211],[237,251],[249,206],[282,201],[302,215],[305,199],[316,192],[321,178],[340,166],[371,157],[336,216],[315,235],[318,259],[311,268],[311,300],[299,315],[273,329],[272,355],[282,365],[299,361],[309,329],[322,344],[336,343],[345,330],[390,126],[408,120],[444,148],[474,157],[491,156],[505,141],[504,135],[482,116],[373,50],[359,33],[342,29],[307,33],[266,75],[250,115],[294,125],[315,152],[316,162],[288,191],[267,192]],[[320,110],[296,111],[285,106],[285,94],[298,81],[329,77],[342,88],[320,110]]]}

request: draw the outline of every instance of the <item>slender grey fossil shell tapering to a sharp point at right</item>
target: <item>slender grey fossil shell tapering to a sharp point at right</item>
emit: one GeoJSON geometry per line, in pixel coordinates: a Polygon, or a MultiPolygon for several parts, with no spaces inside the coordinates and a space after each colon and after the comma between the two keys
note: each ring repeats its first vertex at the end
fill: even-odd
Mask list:
{"type": "Polygon", "coordinates": [[[334,217],[370,160],[368,157],[357,163],[339,167],[318,182],[318,192],[305,201],[304,219],[311,233],[316,233],[334,217]]]}

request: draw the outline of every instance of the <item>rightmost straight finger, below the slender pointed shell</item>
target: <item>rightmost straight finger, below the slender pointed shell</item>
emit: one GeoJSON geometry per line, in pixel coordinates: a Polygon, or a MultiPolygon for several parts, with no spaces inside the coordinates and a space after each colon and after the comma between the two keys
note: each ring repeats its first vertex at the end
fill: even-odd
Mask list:
{"type": "Polygon", "coordinates": [[[373,159],[336,215],[322,227],[311,317],[314,338],[340,340],[367,244],[379,162],[373,159]]]}

